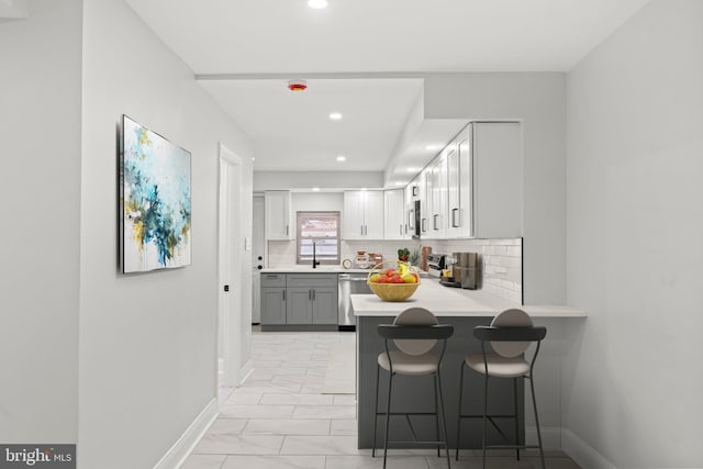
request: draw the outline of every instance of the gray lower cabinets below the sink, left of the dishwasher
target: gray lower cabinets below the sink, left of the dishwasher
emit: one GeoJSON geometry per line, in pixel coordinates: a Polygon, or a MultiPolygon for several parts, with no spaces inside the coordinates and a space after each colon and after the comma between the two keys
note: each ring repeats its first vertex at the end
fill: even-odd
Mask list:
{"type": "Polygon", "coordinates": [[[261,273],[264,330],[336,326],[337,309],[336,273],[261,273]]]}

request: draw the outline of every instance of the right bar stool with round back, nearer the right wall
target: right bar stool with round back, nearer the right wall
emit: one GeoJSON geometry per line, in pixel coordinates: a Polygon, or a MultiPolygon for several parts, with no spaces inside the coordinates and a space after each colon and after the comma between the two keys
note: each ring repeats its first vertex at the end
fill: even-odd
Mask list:
{"type": "Polygon", "coordinates": [[[539,448],[542,457],[542,467],[545,468],[545,454],[542,447],[542,433],[539,431],[539,416],[537,415],[537,401],[535,399],[535,383],[533,379],[533,369],[537,354],[539,354],[539,345],[542,339],[547,335],[546,327],[534,327],[532,319],[522,310],[511,309],[498,314],[490,326],[477,326],[473,328],[473,336],[481,340],[481,353],[471,354],[466,357],[461,364],[461,377],[459,381],[459,418],[457,424],[457,460],[459,459],[459,444],[461,442],[461,420],[462,418],[483,418],[483,468],[486,468],[487,449],[515,449],[516,457],[520,460],[520,450],[526,448],[539,448]],[[493,353],[487,353],[486,343],[490,343],[493,353]],[[532,360],[528,362],[524,353],[532,343],[536,342],[537,347],[532,360]],[[472,370],[483,375],[483,414],[471,415],[461,413],[461,400],[464,398],[464,367],[468,366],[472,370]],[[488,381],[492,378],[512,378],[513,379],[513,397],[514,397],[514,414],[512,415],[489,415],[488,414],[488,381]],[[532,389],[532,403],[535,412],[535,423],[537,425],[538,445],[525,445],[520,443],[520,421],[517,414],[517,380],[528,379],[532,389]],[[488,423],[505,438],[505,434],[495,423],[494,418],[514,418],[515,422],[515,444],[514,445],[488,445],[488,423]]]}

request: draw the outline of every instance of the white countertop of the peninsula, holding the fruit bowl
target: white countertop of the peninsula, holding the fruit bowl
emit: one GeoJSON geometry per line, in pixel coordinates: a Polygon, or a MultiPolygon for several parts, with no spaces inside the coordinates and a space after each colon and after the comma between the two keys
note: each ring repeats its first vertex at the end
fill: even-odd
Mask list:
{"type": "Polygon", "coordinates": [[[393,316],[408,308],[426,308],[437,316],[494,316],[499,312],[520,308],[535,317],[585,317],[583,310],[565,305],[524,305],[480,290],[464,290],[423,279],[415,293],[403,302],[382,301],[375,294],[353,294],[356,316],[393,316]]]}

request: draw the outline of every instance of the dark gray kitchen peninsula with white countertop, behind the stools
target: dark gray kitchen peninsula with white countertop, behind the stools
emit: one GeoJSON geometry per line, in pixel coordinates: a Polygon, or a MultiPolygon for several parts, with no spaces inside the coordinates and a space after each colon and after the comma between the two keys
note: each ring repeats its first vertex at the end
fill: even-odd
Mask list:
{"type": "MultiPolygon", "coordinates": [[[[509,308],[521,308],[533,316],[536,325],[547,327],[547,337],[543,342],[539,357],[535,366],[537,376],[535,388],[537,405],[540,414],[540,428],[545,440],[545,448],[558,447],[560,356],[566,337],[573,334],[574,327],[587,316],[585,312],[569,306],[528,305],[521,306],[507,300],[500,299],[480,290],[461,290],[443,287],[436,280],[423,279],[415,294],[404,302],[386,302],[372,294],[352,295],[354,313],[357,316],[357,416],[358,416],[358,447],[370,448],[372,445],[373,403],[376,390],[376,364],[378,355],[383,351],[383,340],[378,335],[379,324],[392,323],[393,319],[408,308],[426,308],[432,311],[440,323],[453,324],[454,335],[447,342],[444,358],[442,381],[445,394],[447,416],[447,432],[449,446],[456,445],[456,429],[458,415],[459,369],[466,355],[480,351],[480,343],[473,337],[473,327],[486,325],[499,312],[509,308]]],[[[578,327],[577,327],[578,328],[578,327]]],[[[529,351],[528,351],[529,353],[529,351]]],[[[433,402],[432,380],[414,379],[406,381],[406,377],[395,378],[393,386],[393,409],[400,412],[408,409],[429,410],[433,402]]],[[[491,402],[495,407],[491,412],[511,413],[513,410],[512,380],[491,381],[491,402]]],[[[482,392],[483,380],[478,373],[468,372],[465,377],[465,412],[481,413],[482,404],[478,398],[482,392]],[[468,397],[468,399],[466,399],[468,397]]],[[[387,395],[388,373],[381,372],[379,395],[387,395]]],[[[525,433],[529,439],[533,436],[533,416],[524,413],[524,389],[518,384],[518,415],[521,421],[521,438],[525,433]]],[[[381,400],[382,402],[382,400],[381,400]]],[[[384,411],[384,404],[379,405],[384,411]]],[[[529,409],[529,407],[527,407],[529,409]]],[[[432,416],[414,417],[413,425],[419,439],[434,437],[435,424],[432,416]],[[425,418],[424,421],[421,418],[425,418]]],[[[511,421],[501,428],[510,438],[514,438],[514,425],[511,421]]],[[[383,421],[379,418],[378,440],[382,442],[383,421]]],[[[462,448],[479,448],[481,446],[481,422],[479,418],[465,421],[461,431],[462,448]]],[[[390,439],[412,439],[406,422],[400,417],[391,418],[390,439]]],[[[489,432],[489,437],[491,432],[489,432]]],[[[495,440],[500,443],[500,440],[495,440]]]]}

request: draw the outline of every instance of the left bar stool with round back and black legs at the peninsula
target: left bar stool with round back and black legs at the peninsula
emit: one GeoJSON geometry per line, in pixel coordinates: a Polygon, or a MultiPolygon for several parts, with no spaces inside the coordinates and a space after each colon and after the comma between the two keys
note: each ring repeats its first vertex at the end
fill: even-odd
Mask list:
{"type": "Polygon", "coordinates": [[[389,443],[404,443],[416,445],[437,446],[437,456],[439,448],[444,445],[447,451],[447,467],[449,467],[449,445],[447,444],[447,421],[444,414],[444,398],[442,393],[442,379],[439,369],[442,368],[442,359],[447,348],[447,338],[454,334],[454,326],[450,324],[438,324],[437,317],[424,308],[410,308],[395,317],[393,324],[379,324],[379,335],[384,339],[386,351],[378,356],[378,365],[376,367],[376,404],[373,415],[373,449],[371,457],[376,457],[376,425],[379,415],[386,415],[386,438],[383,440],[383,468],[386,468],[386,459],[388,455],[389,443]],[[398,350],[390,350],[389,340],[393,340],[398,350]],[[433,353],[433,348],[442,340],[442,351],[439,355],[433,353]],[[378,390],[380,370],[383,368],[389,372],[388,376],[388,405],[386,412],[378,410],[378,390]],[[395,375],[434,378],[435,391],[435,412],[391,412],[391,394],[393,390],[393,377],[395,375]],[[438,403],[437,403],[438,401],[438,403]],[[391,415],[405,415],[405,420],[410,425],[413,439],[410,442],[388,440],[388,431],[391,415]],[[437,440],[420,442],[415,436],[410,415],[435,415],[437,429],[437,440]],[[439,418],[442,418],[444,439],[439,435],[439,418]]]}

